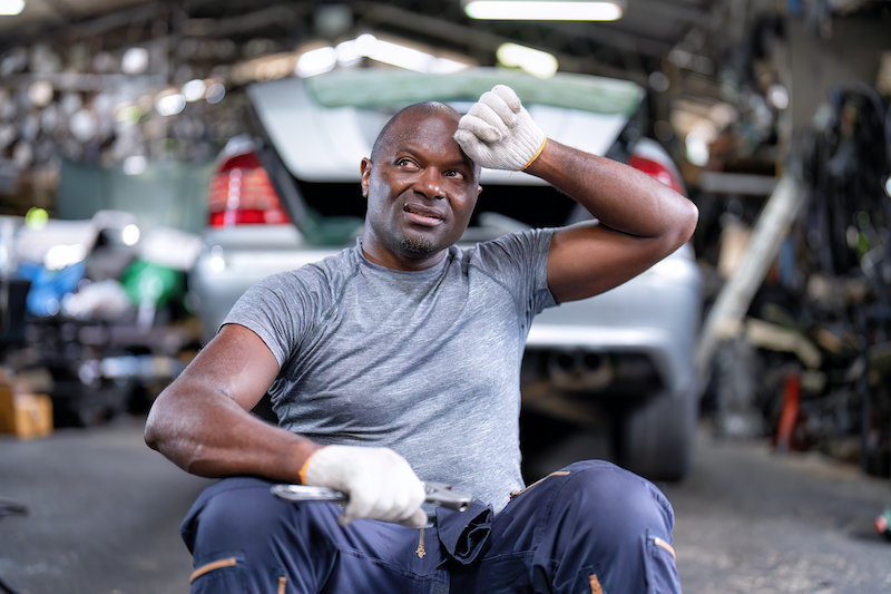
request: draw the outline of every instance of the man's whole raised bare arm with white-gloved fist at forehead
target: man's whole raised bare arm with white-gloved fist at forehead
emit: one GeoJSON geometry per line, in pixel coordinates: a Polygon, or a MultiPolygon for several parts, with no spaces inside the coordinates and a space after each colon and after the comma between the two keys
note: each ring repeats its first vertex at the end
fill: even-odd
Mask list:
{"type": "Polygon", "coordinates": [[[554,235],[548,286],[558,302],[624,283],[677,250],[696,227],[696,206],[665,184],[545,138],[509,87],[483,94],[454,138],[482,167],[541,177],[597,218],[554,235]]]}

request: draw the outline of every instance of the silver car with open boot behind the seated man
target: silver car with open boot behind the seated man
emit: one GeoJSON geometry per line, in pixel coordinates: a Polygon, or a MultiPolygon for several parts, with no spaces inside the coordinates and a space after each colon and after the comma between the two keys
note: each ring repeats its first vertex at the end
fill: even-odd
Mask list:
{"type": "MultiPolygon", "coordinates": [[[[435,99],[463,113],[496,84],[513,87],[550,138],[684,192],[667,153],[639,132],[644,90],[630,81],[473,68],[439,76],[358,69],[255,84],[247,89],[254,132],[234,138],[218,159],[205,250],[189,274],[203,340],[251,284],[355,244],[365,207],[360,162],[398,109],[435,99]]],[[[530,175],[484,169],[481,184],[466,244],[590,217],[530,175]]],[[[621,286],[546,310],[526,348],[523,409],[606,427],[617,462],[653,479],[683,478],[698,410],[701,302],[698,267],[685,245],[621,286]]]]}

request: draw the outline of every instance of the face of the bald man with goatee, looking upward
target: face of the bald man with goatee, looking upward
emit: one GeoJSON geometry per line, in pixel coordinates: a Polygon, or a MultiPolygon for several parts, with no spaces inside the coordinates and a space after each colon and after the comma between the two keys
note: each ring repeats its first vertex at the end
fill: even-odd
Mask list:
{"type": "Polygon", "coordinates": [[[432,266],[467,228],[481,188],[479,167],[452,138],[459,117],[446,109],[404,111],[374,163],[362,160],[362,245],[372,262],[399,270],[432,266]]]}

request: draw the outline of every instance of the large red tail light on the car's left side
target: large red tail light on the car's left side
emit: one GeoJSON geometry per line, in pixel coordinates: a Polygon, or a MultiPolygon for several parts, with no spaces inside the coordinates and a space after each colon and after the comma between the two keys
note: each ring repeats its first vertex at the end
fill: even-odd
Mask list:
{"type": "Polygon", "coordinates": [[[207,188],[207,211],[212,227],[290,221],[254,153],[232,156],[217,168],[207,188]]]}

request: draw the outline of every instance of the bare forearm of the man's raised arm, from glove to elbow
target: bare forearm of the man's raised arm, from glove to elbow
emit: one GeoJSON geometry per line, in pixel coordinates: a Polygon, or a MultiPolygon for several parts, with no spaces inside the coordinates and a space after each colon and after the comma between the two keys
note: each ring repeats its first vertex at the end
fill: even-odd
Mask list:
{"type": "Polygon", "coordinates": [[[695,205],[649,175],[549,139],[525,169],[580,203],[600,224],[673,249],[696,226],[695,205]]]}

